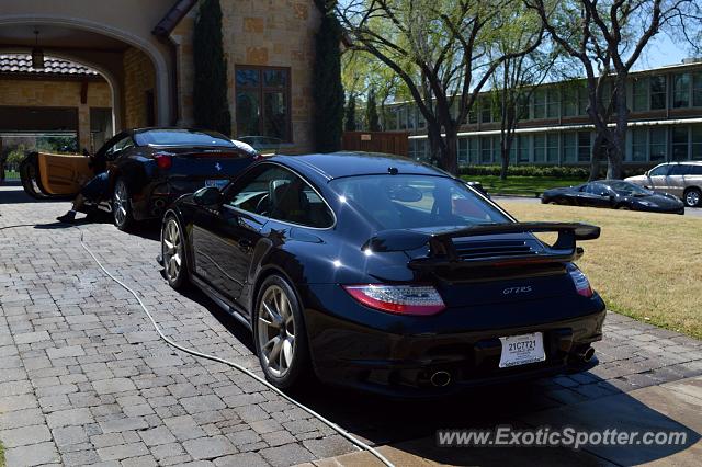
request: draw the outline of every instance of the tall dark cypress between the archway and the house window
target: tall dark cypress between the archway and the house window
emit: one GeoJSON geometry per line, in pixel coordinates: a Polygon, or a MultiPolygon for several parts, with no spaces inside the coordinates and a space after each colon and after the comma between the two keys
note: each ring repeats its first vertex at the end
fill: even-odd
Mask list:
{"type": "Polygon", "coordinates": [[[227,61],[222,46],[219,0],[204,0],[193,31],[193,114],[195,125],[231,134],[227,100],[227,61]]]}

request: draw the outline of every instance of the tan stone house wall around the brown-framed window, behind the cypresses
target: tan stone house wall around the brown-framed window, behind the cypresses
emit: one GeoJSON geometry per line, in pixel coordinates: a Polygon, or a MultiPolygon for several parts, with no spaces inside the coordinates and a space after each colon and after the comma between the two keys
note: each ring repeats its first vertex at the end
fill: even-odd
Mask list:
{"type": "MultiPolygon", "coordinates": [[[[236,135],[237,65],[288,67],[291,69],[291,118],[293,141],[282,152],[309,152],[312,135],[312,65],[314,36],[320,13],[313,0],[219,0],[223,41],[227,60],[231,134],[236,135]]],[[[176,27],[178,46],[179,122],[192,124],[192,30],[197,5],[176,27]]]]}

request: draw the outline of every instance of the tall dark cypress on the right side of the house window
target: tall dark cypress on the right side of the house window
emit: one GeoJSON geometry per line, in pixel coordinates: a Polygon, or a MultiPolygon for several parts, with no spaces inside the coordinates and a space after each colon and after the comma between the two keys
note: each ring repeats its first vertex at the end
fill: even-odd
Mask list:
{"type": "Polygon", "coordinates": [[[333,15],[333,1],[317,0],[322,12],[315,35],[313,78],[315,148],[319,152],[338,151],[343,124],[343,87],[341,86],[341,25],[333,15]]]}

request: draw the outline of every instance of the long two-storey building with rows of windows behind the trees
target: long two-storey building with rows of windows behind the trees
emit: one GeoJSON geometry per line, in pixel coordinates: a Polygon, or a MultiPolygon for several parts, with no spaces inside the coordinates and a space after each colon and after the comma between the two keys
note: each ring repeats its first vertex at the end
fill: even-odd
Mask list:
{"type": "MultiPolygon", "coordinates": [[[[702,60],[633,72],[627,94],[626,166],[702,160],[702,60]]],[[[499,163],[500,117],[495,101],[495,93],[483,93],[463,123],[460,164],[499,163]]],[[[547,83],[534,90],[522,110],[511,163],[588,164],[595,132],[587,106],[584,81],[547,83]]],[[[388,105],[384,129],[409,132],[409,156],[429,158],[426,122],[412,103],[388,105]]]]}

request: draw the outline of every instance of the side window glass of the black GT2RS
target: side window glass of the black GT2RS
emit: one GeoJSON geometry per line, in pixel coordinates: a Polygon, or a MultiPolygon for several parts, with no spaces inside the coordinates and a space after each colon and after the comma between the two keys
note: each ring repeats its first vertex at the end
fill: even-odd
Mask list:
{"type": "Polygon", "coordinates": [[[225,204],[276,220],[326,228],[333,216],[304,180],[278,166],[263,164],[225,193],[225,204]]]}

